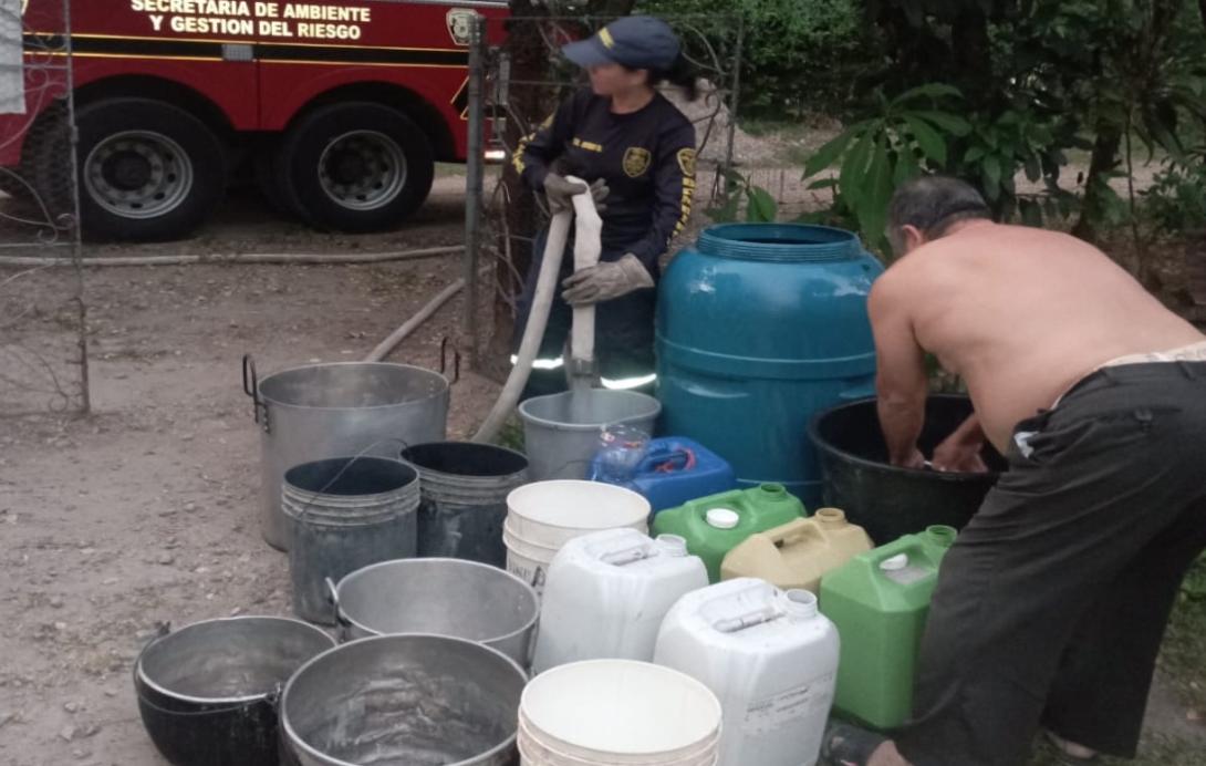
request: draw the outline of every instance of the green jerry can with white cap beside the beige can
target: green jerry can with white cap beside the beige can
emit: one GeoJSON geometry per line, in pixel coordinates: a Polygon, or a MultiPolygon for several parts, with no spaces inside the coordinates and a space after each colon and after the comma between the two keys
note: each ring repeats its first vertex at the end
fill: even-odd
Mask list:
{"type": "Polygon", "coordinates": [[[755,532],[765,532],[804,515],[804,504],[781,484],[709,495],[654,516],[652,536],[678,534],[703,560],[708,580],[720,581],[720,563],[730,550],[755,532]]]}

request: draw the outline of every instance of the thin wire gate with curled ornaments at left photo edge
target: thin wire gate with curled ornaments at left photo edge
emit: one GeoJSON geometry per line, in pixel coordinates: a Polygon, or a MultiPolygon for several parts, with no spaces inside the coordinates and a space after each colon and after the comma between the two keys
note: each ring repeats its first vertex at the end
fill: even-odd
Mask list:
{"type": "Polygon", "coordinates": [[[0,416],[89,409],[70,0],[25,5],[0,0],[0,416]]]}

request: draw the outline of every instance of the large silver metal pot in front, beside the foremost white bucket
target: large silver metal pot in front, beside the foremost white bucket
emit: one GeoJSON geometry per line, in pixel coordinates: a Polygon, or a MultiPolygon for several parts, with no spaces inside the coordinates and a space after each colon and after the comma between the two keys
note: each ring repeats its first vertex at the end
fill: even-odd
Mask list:
{"type": "Polygon", "coordinates": [[[526,682],[509,657],[469,641],[365,638],[289,680],[285,747],[300,766],[508,766],[526,682]]]}

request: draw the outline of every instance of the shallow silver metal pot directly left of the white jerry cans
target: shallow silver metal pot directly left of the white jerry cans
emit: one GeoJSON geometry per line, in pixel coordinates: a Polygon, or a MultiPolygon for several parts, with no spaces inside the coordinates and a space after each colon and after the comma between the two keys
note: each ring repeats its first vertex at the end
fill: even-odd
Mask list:
{"type": "Polygon", "coordinates": [[[431,633],[475,641],[522,666],[531,657],[540,601],[509,572],[475,561],[387,561],[332,587],[340,638],[431,633]]]}

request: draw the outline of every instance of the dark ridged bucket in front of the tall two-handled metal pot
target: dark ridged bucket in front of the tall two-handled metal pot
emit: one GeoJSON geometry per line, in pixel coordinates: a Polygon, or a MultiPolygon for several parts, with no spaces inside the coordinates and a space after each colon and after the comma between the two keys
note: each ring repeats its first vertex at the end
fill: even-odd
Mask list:
{"type": "Polygon", "coordinates": [[[281,487],[289,527],[293,612],[333,624],[327,580],[415,555],[418,473],[384,457],[338,457],[291,468],[281,487]]]}

